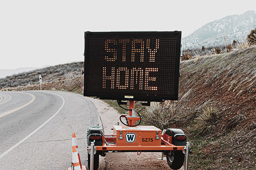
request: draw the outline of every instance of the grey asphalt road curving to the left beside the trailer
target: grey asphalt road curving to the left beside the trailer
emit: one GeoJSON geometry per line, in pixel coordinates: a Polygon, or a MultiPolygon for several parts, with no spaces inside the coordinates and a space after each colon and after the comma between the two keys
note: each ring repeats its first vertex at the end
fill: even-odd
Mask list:
{"type": "Polygon", "coordinates": [[[86,129],[101,125],[95,105],[61,91],[0,91],[0,170],[67,170],[72,133],[87,165],[86,129]]]}

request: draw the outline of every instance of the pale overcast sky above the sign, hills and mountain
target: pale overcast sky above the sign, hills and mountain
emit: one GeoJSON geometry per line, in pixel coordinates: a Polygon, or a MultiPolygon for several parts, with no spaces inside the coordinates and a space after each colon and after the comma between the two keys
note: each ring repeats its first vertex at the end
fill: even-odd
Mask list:
{"type": "Polygon", "coordinates": [[[256,0],[2,0],[0,69],[84,60],[84,31],[182,31],[256,10],[256,0]]]}

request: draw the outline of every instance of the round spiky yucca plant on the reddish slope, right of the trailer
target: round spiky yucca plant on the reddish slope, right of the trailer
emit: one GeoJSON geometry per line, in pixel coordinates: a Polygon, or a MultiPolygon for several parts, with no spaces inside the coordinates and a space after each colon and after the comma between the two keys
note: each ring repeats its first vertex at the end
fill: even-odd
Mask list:
{"type": "Polygon", "coordinates": [[[198,134],[207,134],[215,131],[218,123],[220,112],[215,106],[205,106],[201,111],[198,111],[195,125],[198,134]]]}

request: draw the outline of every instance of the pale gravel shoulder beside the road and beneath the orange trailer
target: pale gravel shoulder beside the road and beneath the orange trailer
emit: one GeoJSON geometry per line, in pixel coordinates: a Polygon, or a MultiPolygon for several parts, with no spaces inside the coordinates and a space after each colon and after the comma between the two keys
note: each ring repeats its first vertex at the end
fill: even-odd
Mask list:
{"type": "MultiPolygon", "coordinates": [[[[97,108],[104,133],[113,133],[111,128],[116,122],[120,122],[120,114],[102,100],[89,99],[97,108]]],[[[99,157],[98,170],[170,170],[166,160],[158,160],[161,155],[162,153],[107,153],[105,157],[99,157]]],[[[184,170],[184,167],[180,170],[184,170]]]]}

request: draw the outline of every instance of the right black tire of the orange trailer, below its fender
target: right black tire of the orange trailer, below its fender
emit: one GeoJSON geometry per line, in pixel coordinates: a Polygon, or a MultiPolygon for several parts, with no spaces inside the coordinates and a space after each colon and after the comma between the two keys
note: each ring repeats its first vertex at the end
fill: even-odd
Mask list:
{"type": "Polygon", "coordinates": [[[166,159],[170,168],[173,170],[178,170],[183,165],[185,154],[183,154],[183,152],[180,150],[169,151],[166,154],[166,159]]]}

